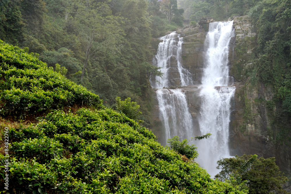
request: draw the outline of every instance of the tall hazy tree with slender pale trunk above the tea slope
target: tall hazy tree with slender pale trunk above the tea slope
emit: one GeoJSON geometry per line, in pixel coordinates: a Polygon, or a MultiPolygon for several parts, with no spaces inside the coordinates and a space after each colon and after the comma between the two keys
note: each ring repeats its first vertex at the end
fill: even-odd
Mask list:
{"type": "Polygon", "coordinates": [[[81,81],[84,78],[89,58],[98,50],[108,50],[111,53],[118,52],[117,40],[120,29],[116,28],[116,20],[111,15],[106,3],[95,3],[93,0],[81,1],[77,20],[81,25],[81,41],[85,45],[83,71],[81,81]]]}

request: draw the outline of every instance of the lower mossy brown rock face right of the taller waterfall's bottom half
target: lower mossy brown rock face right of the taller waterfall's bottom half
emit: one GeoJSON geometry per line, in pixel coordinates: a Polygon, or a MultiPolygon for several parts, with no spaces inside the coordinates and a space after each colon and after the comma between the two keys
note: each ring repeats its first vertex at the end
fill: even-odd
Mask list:
{"type": "MultiPolygon", "coordinates": [[[[249,82],[235,83],[235,105],[230,121],[231,155],[257,154],[265,158],[275,156],[268,110],[258,101],[258,90],[249,82]]],[[[264,92],[260,91],[260,94],[264,92]]]]}

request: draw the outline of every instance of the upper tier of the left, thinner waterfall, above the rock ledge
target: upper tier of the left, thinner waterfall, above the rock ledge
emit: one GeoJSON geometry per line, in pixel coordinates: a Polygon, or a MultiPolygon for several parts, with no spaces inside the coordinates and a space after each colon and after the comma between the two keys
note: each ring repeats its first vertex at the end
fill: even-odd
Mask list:
{"type": "Polygon", "coordinates": [[[164,76],[163,78],[156,77],[152,80],[152,87],[163,88],[171,85],[184,86],[193,84],[190,72],[182,67],[181,50],[183,38],[180,37],[180,34],[172,32],[159,39],[163,40],[163,42],[159,43],[153,64],[161,67],[164,76]]]}

